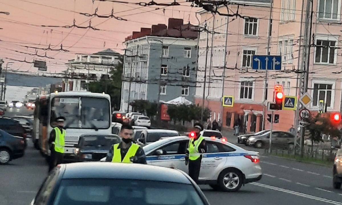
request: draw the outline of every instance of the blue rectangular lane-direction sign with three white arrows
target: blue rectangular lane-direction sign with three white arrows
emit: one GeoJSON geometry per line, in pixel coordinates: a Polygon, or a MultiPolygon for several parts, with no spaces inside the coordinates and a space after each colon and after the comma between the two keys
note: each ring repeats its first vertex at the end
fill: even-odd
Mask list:
{"type": "Polygon", "coordinates": [[[281,70],[281,56],[253,55],[252,69],[281,70]]]}

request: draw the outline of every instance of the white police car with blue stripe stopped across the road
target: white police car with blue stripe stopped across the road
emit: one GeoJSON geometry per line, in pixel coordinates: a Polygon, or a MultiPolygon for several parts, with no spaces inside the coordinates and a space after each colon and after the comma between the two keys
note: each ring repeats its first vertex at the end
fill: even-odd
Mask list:
{"type": "MultiPolygon", "coordinates": [[[[213,189],[223,191],[238,191],[242,185],[261,179],[259,152],[242,149],[227,142],[226,138],[204,138],[207,153],[203,154],[199,184],[209,184],[213,189]]],[[[187,136],[176,136],[146,145],[143,149],[147,164],[177,168],[188,173],[185,165],[188,141],[187,136]]]]}

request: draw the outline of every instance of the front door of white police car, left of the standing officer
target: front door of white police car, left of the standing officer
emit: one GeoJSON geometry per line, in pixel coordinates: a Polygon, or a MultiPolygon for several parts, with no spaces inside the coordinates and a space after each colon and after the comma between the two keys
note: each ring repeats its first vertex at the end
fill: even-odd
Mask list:
{"type": "Polygon", "coordinates": [[[171,142],[148,154],[146,161],[151,165],[185,170],[185,150],[186,140],[171,142]]]}

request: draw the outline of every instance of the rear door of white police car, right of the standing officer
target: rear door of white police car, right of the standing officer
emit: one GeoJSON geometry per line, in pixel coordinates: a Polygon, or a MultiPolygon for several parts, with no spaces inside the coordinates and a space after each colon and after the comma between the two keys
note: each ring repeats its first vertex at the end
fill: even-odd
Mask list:
{"type": "Polygon", "coordinates": [[[206,141],[207,152],[202,155],[199,180],[211,180],[226,163],[227,154],[221,145],[219,142],[206,141]]]}

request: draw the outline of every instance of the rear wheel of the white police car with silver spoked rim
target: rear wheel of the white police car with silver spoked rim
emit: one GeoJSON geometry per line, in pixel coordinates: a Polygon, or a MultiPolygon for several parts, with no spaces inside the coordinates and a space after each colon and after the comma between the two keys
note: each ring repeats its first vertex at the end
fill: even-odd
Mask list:
{"type": "Polygon", "coordinates": [[[223,191],[238,191],[243,183],[243,176],[240,170],[228,168],[221,172],[218,178],[218,185],[223,191]]]}

